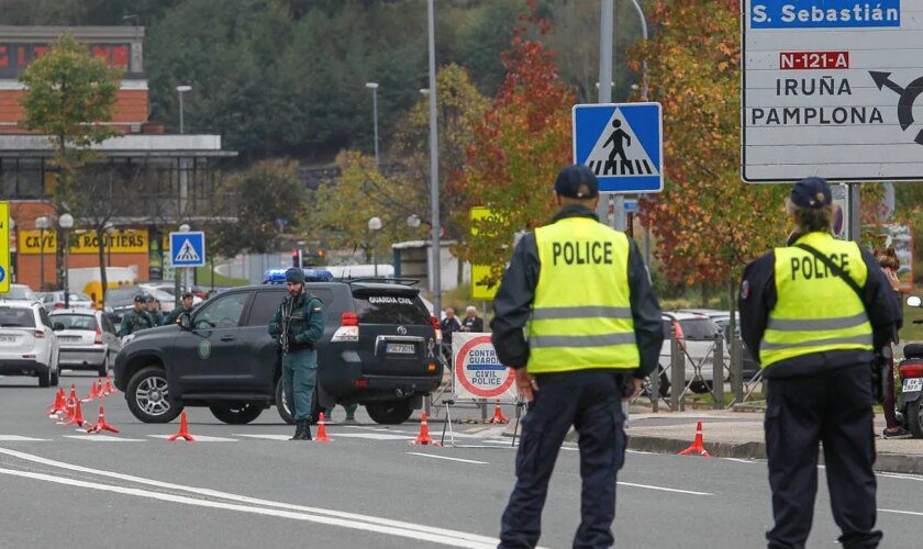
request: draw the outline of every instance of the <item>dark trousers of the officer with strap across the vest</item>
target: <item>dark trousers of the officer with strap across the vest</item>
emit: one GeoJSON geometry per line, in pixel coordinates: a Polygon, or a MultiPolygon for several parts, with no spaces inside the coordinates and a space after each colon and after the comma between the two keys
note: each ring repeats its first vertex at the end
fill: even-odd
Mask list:
{"type": "Polygon", "coordinates": [[[766,534],[770,548],[804,547],[818,492],[819,441],[841,544],[878,546],[871,405],[871,370],[864,365],[769,380],[766,452],[776,519],[766,534]]]}

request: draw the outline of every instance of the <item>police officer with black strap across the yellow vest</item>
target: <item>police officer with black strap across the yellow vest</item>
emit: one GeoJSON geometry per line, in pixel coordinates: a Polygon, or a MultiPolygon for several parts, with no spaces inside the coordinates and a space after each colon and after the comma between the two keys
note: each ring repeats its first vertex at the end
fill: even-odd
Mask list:
{"type": "Polygon", "coordinates": [[[871,365],[900,327],[900,305],[875,257],[831,235],[826,181],[796,183],[788,213],[796,225],[788,246],[747,266],[741,283],[743,338],[768,380],[776,524],[766,537],[770,548],[804,547],[823,442],[841,544],[877,547],[871,365]]]}

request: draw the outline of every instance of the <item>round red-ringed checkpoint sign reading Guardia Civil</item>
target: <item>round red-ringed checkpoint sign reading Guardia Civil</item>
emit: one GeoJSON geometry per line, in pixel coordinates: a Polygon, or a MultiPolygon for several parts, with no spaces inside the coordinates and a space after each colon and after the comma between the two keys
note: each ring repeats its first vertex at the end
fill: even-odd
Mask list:
{"type": "Polygon", "coordinates": [[[513,369],[497,359],[490,336],[475,337],[462,346],[455,356],[455,377],[476,399],[499,399],[515,380],[513,369]]]}

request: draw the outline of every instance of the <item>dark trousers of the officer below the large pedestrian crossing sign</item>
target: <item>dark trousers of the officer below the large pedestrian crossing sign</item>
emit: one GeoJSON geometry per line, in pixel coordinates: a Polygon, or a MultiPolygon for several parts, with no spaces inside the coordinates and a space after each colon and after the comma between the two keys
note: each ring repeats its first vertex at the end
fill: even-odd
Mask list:
{"type": "Polygon", "coordinates": [[[538,392],[522,421],[516,485],[503,513],[500,547],[535,547],[555,459],[571,425],[580,435],[582,520],[574,547],[613,544],[615,474],[625,458],[622,374],[582,370],[536,377],[538,392]]]}

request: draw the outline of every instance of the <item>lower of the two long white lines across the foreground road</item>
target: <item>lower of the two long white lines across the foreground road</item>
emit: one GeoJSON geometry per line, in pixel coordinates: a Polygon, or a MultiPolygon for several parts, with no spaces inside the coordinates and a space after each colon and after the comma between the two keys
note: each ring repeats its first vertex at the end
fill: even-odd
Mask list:
{"type": "MultiPolygon", "coordinates": [[[[46,482],[55,482],[57,484],[66,484],[70,486],[78,486],[88,490],[97,490],[101,492],[113,492],[123,495],[133,495],[137,497],[147,497],[149,500],[159,500],[163,502],[179,503],[184,505],[193,505],[198,507],[211,507],[226,511],[237,511],[241,513],[252,513],[254,515],[273,516],[279,518],[291,518],[296,520],[308,520],[311,523],[325,524],[330,526],[340,526],[344,528],[353,528],[356,530],[371,531],[376,534],[390,534],[392,536],[400,536],[410,539],[431,541],[434,544],[443,544],[453,547],[470,547],[470,548],[488,548],[493,547],[499,540],[475,541],[463,538],[448,537],[426,531],[419,531],[413,529],[396,528],[390,526],[381,526],[372,523],[363,523],[358,520],[349,520],[343,518],[333,518],[310,513],[298,513],[292,511],[270,509],[266,507],[256,507],[252,505],[240,505],[234,503],[214,502],[209,500],[200,500],[196,497],[188,497],[185,495],[164,494],[160,492],[152,492],[148,490],[141,490],[126,486],[114,486],[107,484],[97,484],[93,482],[86,482],[81,480],[67,479],[62,477],[54,477],[44,473],[34,473],[30,471],[18,471],[13,469],[0,468],[0,474],[9,474],[11,477],[21,477],[25,479],[41,480],[46,482]]],[[[464,534],[464,533],[459,533],[464,534]]]]}

